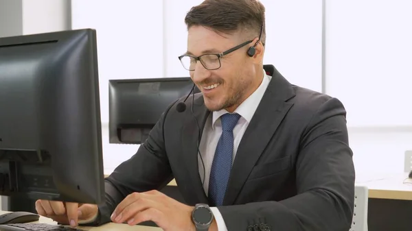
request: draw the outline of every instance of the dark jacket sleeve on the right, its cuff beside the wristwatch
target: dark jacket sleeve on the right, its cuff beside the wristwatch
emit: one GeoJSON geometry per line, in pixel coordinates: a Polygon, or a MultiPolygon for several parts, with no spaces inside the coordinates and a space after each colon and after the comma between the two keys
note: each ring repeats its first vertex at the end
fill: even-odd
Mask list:
{"type": "Polygon", "coordinates": [[[297,195],[280,202],[218,207],[227,229],[248,230],[264,223],[276,231],[349,230],[355,171],[345,115],[341,102],[332,98],[312,117],[297,156],[297,195]]]}

